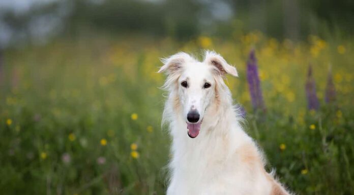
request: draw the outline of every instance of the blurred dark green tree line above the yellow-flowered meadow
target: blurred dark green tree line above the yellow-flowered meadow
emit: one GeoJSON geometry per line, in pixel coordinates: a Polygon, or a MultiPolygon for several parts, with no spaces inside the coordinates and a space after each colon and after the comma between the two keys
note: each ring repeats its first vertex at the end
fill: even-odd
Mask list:
{"type": "Polygon", "coordinates": [[[96,30],[185,40],[257,29],[303,40],[309,33],[351,35],[352,21],[354,2],[346,0],[53,0],[21,13],[0,8],[0,48],[96,30]]]}

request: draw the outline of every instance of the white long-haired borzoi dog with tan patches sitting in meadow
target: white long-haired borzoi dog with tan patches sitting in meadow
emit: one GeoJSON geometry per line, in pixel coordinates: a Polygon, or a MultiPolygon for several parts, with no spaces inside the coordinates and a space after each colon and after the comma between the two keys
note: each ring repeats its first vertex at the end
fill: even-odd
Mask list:
{"type": "Polygon", "coordinates": [[[163,63],[163,122],[172,136],[167,195],[289,194],[264,170],[262,152],[240,125],[223,81],[227,73],[238,76],[236,68],[214,52],[203,62],[178,53],[163,63]]]}

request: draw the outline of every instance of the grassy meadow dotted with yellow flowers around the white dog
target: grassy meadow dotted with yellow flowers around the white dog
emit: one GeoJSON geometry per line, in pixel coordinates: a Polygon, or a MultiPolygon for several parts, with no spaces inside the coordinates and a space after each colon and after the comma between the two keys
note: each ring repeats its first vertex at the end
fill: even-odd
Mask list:
{"type": "Polygon", "coordinates": [[[4,52],[0,88],[1,194],[164,194],[170,138],[160,57],[204,49],[237,67],[228,77],[246,131],[298,194],[354,192],[354,41],[277,41],[259,32],[223,41],[143,37],[56,40],[4,52]],[[246,81],[255,48],[266,112],[246,81]],[[321,108],[307,110],[312,64],[321,108]],[[324,101],[329,65],[337,101],[324,101]]]}

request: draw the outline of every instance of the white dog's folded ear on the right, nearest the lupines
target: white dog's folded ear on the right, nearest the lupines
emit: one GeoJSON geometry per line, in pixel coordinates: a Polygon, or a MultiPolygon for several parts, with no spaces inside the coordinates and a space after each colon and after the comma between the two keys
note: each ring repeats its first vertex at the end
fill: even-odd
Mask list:
{"type": "Polygon", "coordinates": [[[205,52],[204,63],[215,66],[221,75],[228,73],[232,76],[239,76],[235,67],[229,65],[223,57],[213,51],[205,52]]]}

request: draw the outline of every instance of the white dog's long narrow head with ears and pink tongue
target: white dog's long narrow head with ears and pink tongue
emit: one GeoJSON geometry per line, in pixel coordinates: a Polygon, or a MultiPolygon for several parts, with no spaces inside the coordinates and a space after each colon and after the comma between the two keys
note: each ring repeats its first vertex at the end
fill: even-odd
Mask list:
{"type": "Polygon", "coordinates": [[[182,107],[188,135],[195,138],[205,110],[218,98],[220,88],[225,88],[222,77],[226,73],[238,76],[237,70],[219,54],[210,51],[205,52],[203,62],[186,53],[175,54],[162,62],[164,65],[158,72],[167,73],[164,86],[178,97],[176,103],[182,107]]]}

